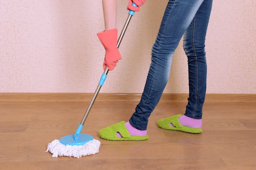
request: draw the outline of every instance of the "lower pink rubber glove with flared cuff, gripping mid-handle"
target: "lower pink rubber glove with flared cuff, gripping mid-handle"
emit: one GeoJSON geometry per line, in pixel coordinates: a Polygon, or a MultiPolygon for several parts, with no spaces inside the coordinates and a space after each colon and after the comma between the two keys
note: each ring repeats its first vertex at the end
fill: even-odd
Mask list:
{"type": "Polygon", "coordinates": [[[117,29],[111,29],[107,31],[102,31],[97,34],[100,42],[105,48],[105,59],[103,62],[103,69],[105,70],[106,66],[111,71],[116,67],[118,60],[122,59],[121,54],[119,53],[117,45],[117,29]]]}

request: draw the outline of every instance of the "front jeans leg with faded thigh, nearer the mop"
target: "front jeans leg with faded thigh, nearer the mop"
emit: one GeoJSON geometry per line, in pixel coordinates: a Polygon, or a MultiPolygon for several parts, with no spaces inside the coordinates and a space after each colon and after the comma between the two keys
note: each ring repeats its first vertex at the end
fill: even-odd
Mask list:
{"type": "Polygon", "coordinates": [[[137,129],[147,129],[148,117],[168,82],[174,51],[203,1],[169,0],[152,48],[151,65],[141,100],[129,120],[137,129]]]}

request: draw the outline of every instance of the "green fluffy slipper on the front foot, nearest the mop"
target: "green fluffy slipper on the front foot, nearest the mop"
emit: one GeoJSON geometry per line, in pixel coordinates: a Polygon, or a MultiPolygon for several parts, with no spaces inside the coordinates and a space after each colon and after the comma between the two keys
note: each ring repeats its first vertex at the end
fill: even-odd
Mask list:
{"type": "Polygon", "coordinates": [[[142,141],[148,139],[148,135],[131,136],[127,128],[125,127],[125,121],[110,125],[102,130],[99,130],[99,137],[111,141],[142,141]],[[122,135],[121,138],[116,136],[117,132],[122,135]]]}

